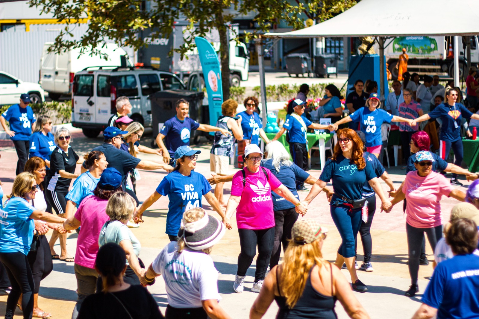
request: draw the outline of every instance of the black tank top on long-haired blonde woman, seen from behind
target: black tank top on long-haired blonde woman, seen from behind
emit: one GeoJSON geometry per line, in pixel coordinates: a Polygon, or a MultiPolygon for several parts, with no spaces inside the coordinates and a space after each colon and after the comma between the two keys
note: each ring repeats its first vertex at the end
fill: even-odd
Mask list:
{"type": "MultiPolygon", "coordinates": [[[[316,291],[311,285],[311,271],[309,270],[308,280],[303,290],[303,294],[299,297],[295,307],[289,309],[286,305],[286,298],[281,296],[279,288],[278,271],[276,270],[276,285],[280,296],[274,296],[274,300],[278,304],[279,311],[276,319],[337,319],[338,316],[334,311],[336,296],[324,296],[316,291]]],[[[331,267],[331,264],[330,264],[331,267]]],[[[332,268],[331,268],[331,294],[332,294],[332,268]]]]}

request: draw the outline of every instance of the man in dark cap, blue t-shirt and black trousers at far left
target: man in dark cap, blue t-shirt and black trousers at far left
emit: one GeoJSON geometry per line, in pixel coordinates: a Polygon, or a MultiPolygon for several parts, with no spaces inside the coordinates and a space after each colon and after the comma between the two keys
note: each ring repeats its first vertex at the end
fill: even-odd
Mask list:
{"type": "Polygon", "coordinates": [[[23,172],[25,163],[28,159],[28,152],[30,151],[30,137],[32,130],[35,128],[35,114],[29,103],[30,96],[23,93],[20,95],[20,103],[11,105],[7,111],[0,116],[0,123],[5,130],[5,133],[10,136],[17,151],[18,162],[15,173],[18,175],[23,172]],[[7,127],[5,121],[8,121],[10,128],[7,127]]]}

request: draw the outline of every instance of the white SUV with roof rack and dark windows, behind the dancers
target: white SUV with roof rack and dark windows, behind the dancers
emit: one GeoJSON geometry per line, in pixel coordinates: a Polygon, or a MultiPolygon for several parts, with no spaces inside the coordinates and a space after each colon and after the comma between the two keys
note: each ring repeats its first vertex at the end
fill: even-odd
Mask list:
{"type": "MultiPolygon", "coordinates": [[[[92,67],[93,68],[93,67],[92,67]]],[[[130,118],[151,126],[151,101],[157,91],[186,86],[175,74],[153,68],[86,68],[75,74],[71,96],[71,124],[86,137],[97,137],[116,113],[116,98],[127,96],[132,105],[130,118]]]]}

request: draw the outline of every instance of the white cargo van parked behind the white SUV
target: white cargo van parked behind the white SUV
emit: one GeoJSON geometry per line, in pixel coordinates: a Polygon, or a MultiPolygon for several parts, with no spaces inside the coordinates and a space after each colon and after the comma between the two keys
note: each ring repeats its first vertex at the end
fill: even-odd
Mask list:
{"type": "Polygon", "coordinates": [[[71,94],[73,77],[75,73],[84,68],[132,66],[125,50],[113,43],[108,43],[99,49],[102,54],[108,56],[106,60],[100,55],[90,55],[88,52],[80,55],[80,49],[73,49],[61,54],[48,52],[51,45],[53,45],[53,42],[46,42],[43,46],[39,84],[48,92],[52,100],[58,100],[61,94],[71,94]]]}

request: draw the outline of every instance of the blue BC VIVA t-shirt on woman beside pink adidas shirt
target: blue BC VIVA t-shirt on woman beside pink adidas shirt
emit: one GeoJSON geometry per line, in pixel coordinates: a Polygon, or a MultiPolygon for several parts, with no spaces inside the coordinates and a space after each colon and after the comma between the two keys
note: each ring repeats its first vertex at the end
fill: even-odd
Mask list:
{"type": "Polygon", "coordinates": [[[201,196],[211,191],[211,185],[205,176],[191,171],[189,176],[183,176],[179,171],[166,175],[158,185],[156,192],[168,196],[168,215],[166,216],[166,233],[178,235],[183,213],[194,207],[201,207],[201,196]]]}

